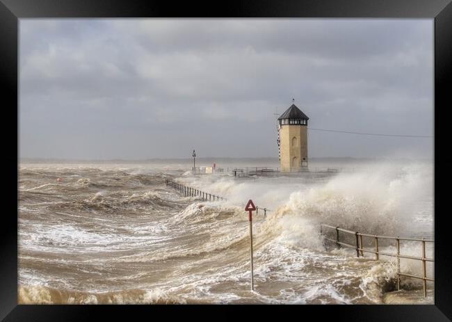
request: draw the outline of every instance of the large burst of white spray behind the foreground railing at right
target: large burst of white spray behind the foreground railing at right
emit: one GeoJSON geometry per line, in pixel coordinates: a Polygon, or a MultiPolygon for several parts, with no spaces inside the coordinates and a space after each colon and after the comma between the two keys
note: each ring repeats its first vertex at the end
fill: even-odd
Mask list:
{"type": "Polygon", "coordinates": [[[431,178],[431,172],[419,166],[342,173],[326,184],[291,193],[277,213],[372,234],[394,234],[413,218],[417,200],[432,195],[431,178]]]}

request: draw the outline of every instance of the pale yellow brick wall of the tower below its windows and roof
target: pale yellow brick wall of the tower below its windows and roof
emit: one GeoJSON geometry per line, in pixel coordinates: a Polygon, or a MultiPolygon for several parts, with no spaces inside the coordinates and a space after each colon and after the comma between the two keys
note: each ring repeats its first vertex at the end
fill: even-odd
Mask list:
{"type": "Polygon", "coordinates": [[[305,125],[281,125],[280,155],[282,171],[300,170],[302,162],[307,164],[307,127],[305,125]]]}

